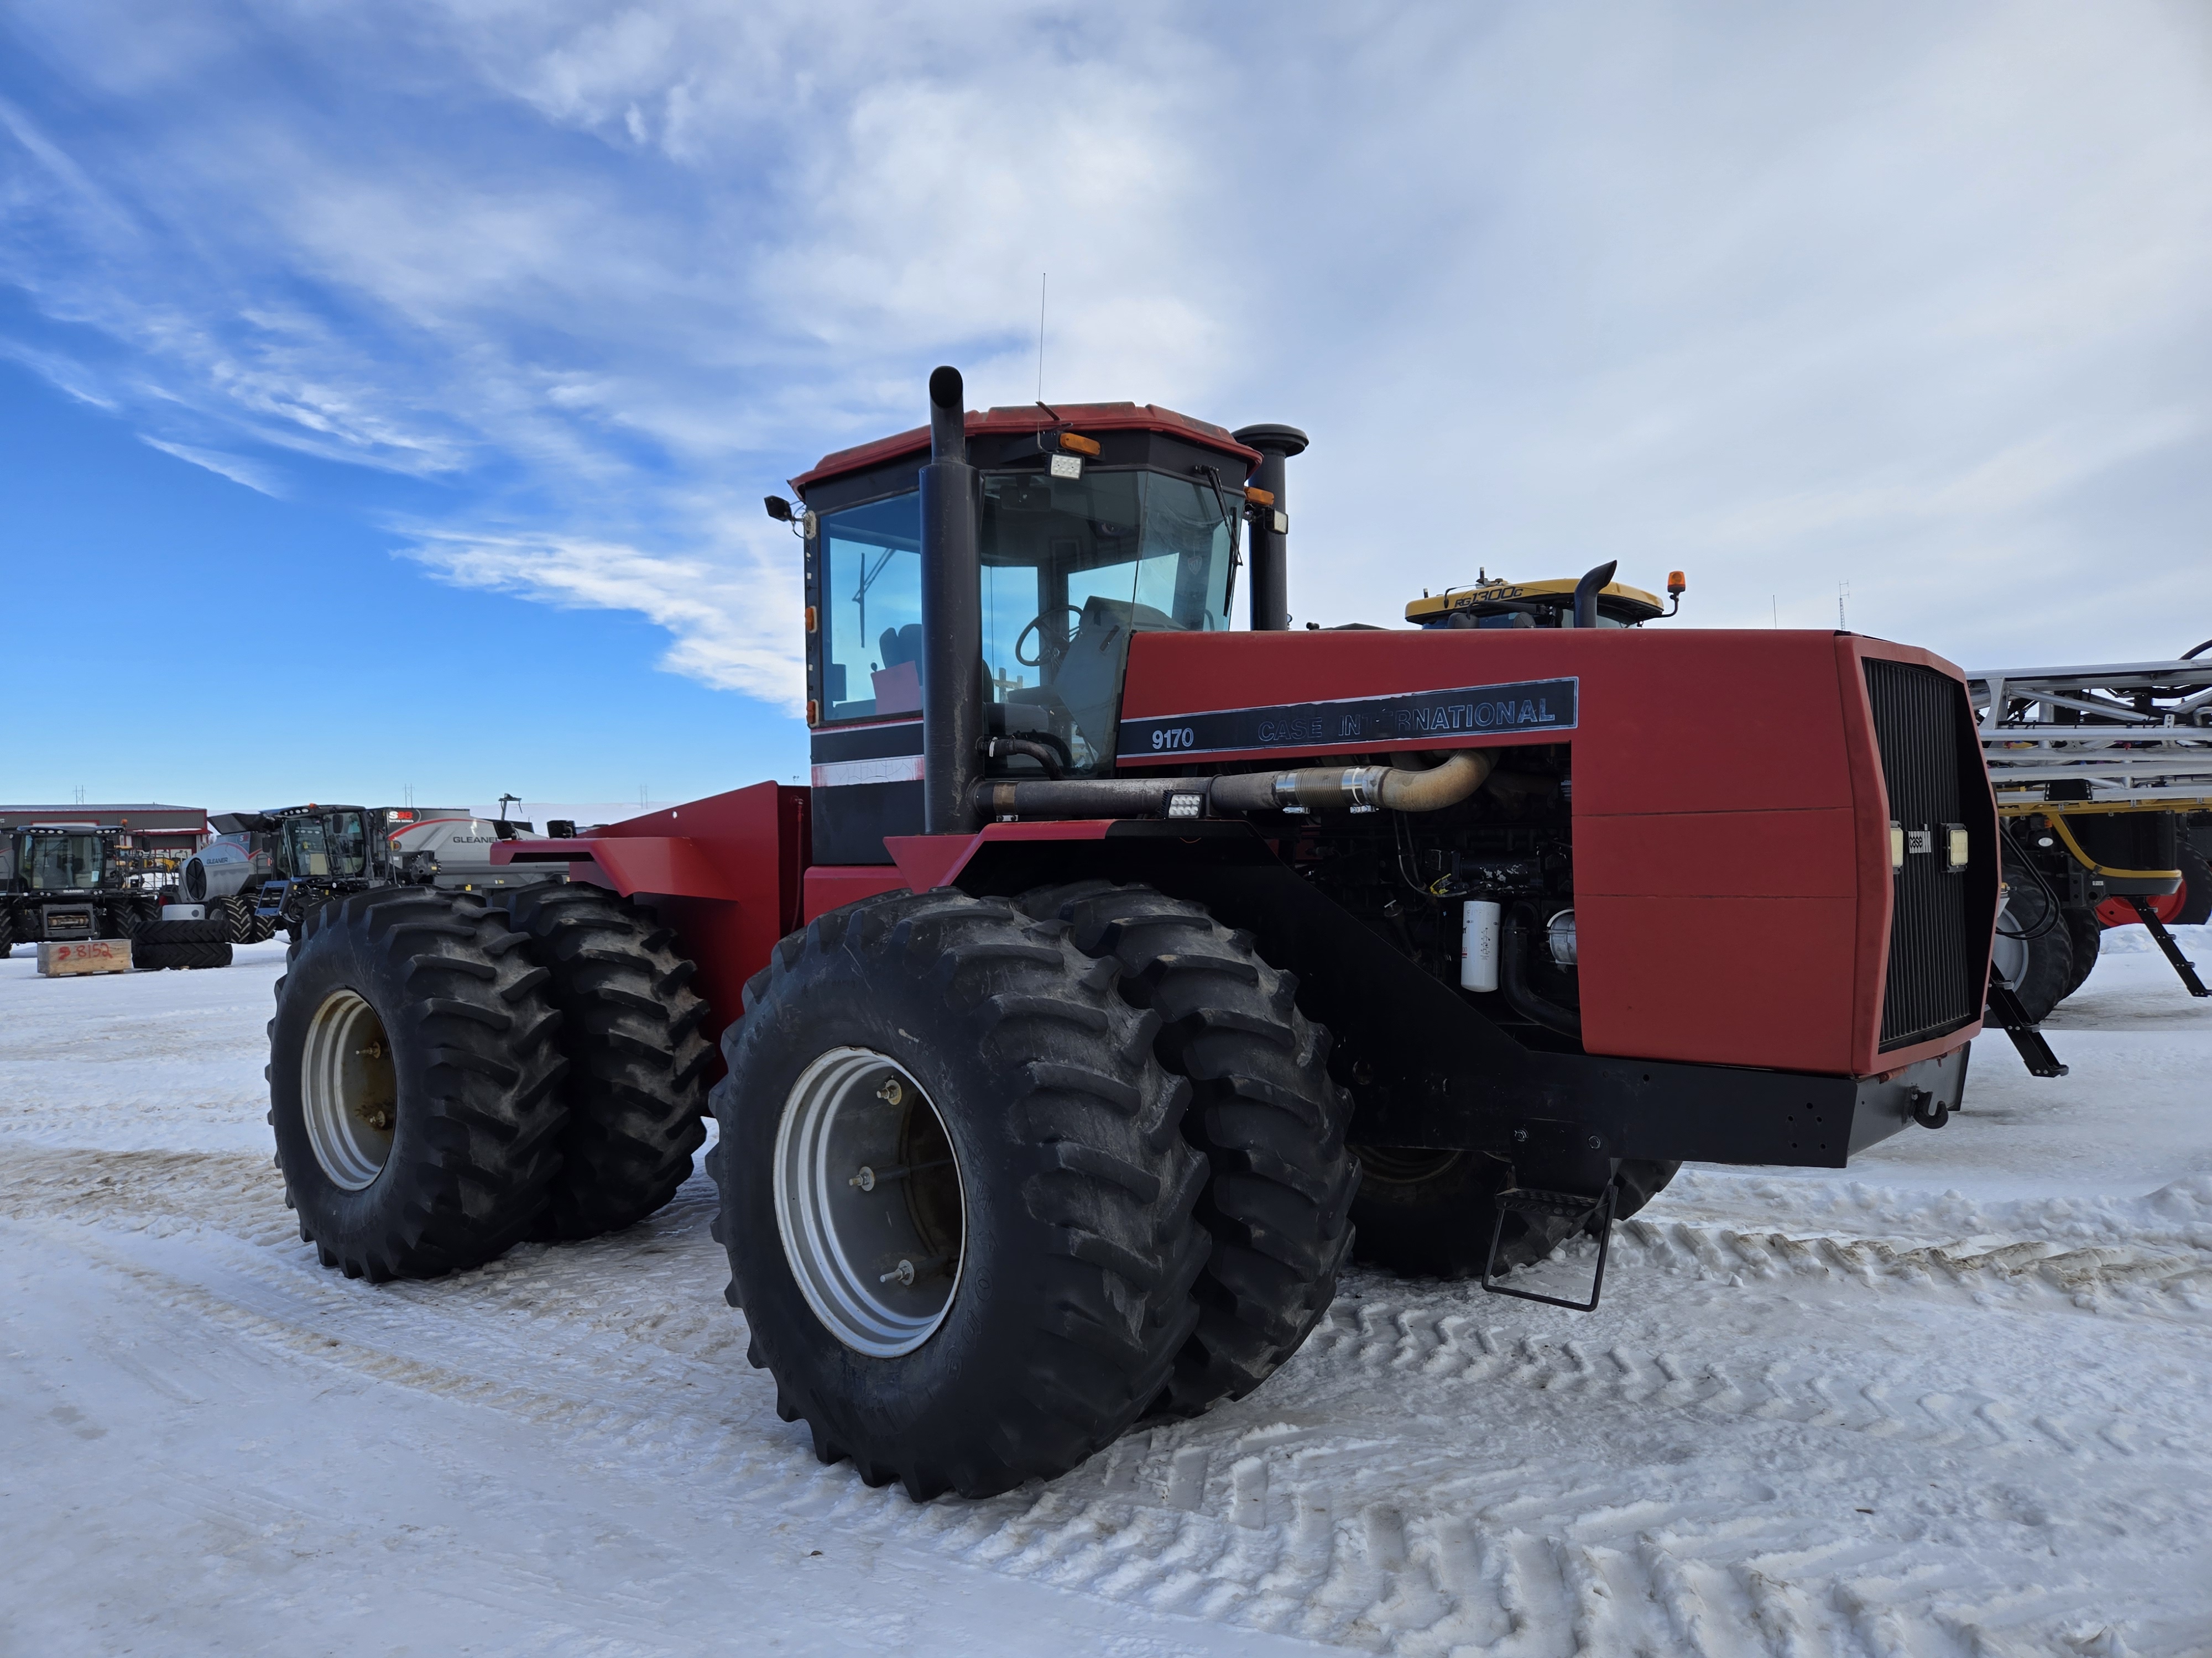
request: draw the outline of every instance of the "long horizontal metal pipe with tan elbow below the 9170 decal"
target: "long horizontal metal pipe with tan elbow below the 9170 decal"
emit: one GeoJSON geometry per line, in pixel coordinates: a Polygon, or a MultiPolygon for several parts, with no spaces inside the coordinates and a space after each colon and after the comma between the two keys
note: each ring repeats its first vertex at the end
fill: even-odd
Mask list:
{"type": "MultiPolygon", "coordinates": [[[[1219,778],[1071,778],[1066,783],[982,783],[975,811],[987,818],[1197,818],[1237,811],[1305,811],[1332,807],[1385,807],[1389,811],[1438,811],[1458,805],[1489,778],[1489,749],[1458,749],[1442,765],[1413,772],[1398,765],[1327,765],[1301,772],[1237,772],[1219,778]],[[1188,809],[1170,809],[1183,796],[1188,809]]],[[[1177,802],[1181,805],[1181,802],[1177,802]]]]}

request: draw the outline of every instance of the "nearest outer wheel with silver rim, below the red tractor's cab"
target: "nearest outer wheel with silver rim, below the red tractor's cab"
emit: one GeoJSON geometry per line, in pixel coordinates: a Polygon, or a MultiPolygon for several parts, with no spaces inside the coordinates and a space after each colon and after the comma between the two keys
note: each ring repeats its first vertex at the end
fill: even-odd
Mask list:
{"type": "Polygon", "coordinates": [[[933,891],[830,911],[745,988],[717,1236],[748,1357],[823,1461],[991,1497],[1075,1468],[1166,1384],[1206,1163],[1159,1019],[1113,979],[1062,922],[933,891]]]}

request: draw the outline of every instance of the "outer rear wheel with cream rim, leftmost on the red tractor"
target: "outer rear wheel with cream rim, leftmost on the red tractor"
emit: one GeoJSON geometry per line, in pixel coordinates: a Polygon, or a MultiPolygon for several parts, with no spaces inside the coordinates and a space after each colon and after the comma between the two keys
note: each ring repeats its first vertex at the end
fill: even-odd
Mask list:
{"type": "Polygon", "coordinates": [[[436,1278],[529,1234],[564,1114],[546,977],[476,895],[385,886],[307,915],[276,982],[270,1125],[325,1267],[436,1278]]]}

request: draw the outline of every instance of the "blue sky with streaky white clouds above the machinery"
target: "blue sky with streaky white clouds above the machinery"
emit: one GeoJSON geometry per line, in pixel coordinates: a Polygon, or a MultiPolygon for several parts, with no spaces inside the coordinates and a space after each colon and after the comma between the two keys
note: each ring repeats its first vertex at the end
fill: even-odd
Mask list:
{"type": "Polygon", "coordinates": [[[759,497],[975,402],[1287,420],[1292,610],[1690,570],[2212,634],[2194,4],[0,7],[0,798],[803,763],[759,497]]]}

